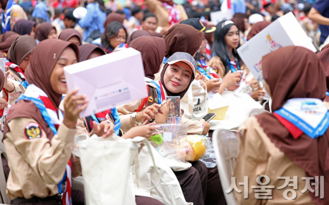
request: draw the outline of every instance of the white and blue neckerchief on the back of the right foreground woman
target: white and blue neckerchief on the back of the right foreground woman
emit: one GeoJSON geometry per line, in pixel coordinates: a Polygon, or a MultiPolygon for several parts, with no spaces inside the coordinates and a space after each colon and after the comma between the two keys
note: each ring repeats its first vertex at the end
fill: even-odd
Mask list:
{"type": "Polygon", "coordinates": [[[289,99],[282,108],[274,113],[291,122],[311,138],[322,136],[329,127],[329,112],[320,99],[289,99]]]}

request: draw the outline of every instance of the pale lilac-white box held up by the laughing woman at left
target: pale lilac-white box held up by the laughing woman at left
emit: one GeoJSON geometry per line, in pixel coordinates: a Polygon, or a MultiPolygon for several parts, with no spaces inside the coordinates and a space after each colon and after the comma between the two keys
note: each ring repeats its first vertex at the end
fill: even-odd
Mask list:
{"type": "Polygon", "coordinates": [[[79,88],[89,99],[80,117],[148,96],[141,54],[133,48],[66,66],[64,73],[68,91],[79,88]]]}

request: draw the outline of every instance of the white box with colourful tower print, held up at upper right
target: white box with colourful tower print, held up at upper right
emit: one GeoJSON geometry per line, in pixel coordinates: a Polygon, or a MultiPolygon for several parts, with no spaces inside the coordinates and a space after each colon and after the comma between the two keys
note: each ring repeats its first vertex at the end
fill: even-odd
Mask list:
{"type": "MultiPolygon", "coordinates": [[[[255,79],[262,75],[262,57],[285,46],[301,46],[313,52],[316,48],[292,12],[278,18],[237,49],[255,79]]],[[[280,59],[278,59],[280,60],[280,59]]]]}

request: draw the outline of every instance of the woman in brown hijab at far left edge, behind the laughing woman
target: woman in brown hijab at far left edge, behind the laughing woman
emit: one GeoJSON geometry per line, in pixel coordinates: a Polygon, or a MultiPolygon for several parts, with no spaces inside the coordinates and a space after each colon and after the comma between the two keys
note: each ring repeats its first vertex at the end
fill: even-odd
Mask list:
{"type": "MultiPolygon", "coordinates": [[[[9,67],[9,75],[5,81],[4,97],[9,105],[13,105],[21,94],[25,93],[28,86],[25,79],[25,69],[30,63],[32,51],[36,46],[36,42],[32,36],[23,35],[18,37],[11,45],[7,59],[9,62],[6,65],[9,67]]],[[[7,109],[4,110],[4,115],[7,114],[7,109]]]]}

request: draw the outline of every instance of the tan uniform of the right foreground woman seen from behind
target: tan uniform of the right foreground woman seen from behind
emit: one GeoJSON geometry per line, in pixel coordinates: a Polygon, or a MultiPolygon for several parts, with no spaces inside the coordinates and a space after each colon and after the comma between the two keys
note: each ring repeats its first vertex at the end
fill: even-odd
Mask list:
{"type": "MultiPolygon", "coordinates": [[[[236,186],[242,192],[234,195],[238,204],[316,204],[312,201],[308,191],[301,193],[305,187],[305,171],[291,161],[283,152],[279,150],[264,133],[263,128],[259,125],[257,118],[251,117],[239,128],[243,132],[240,141],[239,156],[237,157],[234,176],[236,177],[236,186]],[[251,186],[259,186],[256,178],[259,175],[267,175],[270,182],[266,186],[275,186],[272,190],[272,199],[256,199],[254,189],[251,186]],[[244,187],[239,182],[244,182],[244,176],[248,176],[248,198],[244,199],[244,187]],[[283,192],[293,187],[285,187],[278,190],[285,180],[278,179],[279,176],[290,177],[298,176],[298,190],[295,200],[286,200],[283,192]]],[[[264,179],[264,178],[263,178],[264,179]]],[[[264,181],[263,181],[264,182],[264,181]]],[[[289,182],[293,184],[293,182],[289,182]]],[[[288,197],[291,193],[288,194],[288,197]]]]}

